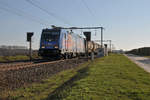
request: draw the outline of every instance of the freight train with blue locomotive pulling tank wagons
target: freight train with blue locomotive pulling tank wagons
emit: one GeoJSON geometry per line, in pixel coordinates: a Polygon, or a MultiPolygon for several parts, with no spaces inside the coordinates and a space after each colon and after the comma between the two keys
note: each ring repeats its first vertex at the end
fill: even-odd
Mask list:
{"type": "Polygon", "coordinates": [[[51,58],[72,58],[98,51],[100,45],[62,28],[43,29],[39,55],[51,58]]]}

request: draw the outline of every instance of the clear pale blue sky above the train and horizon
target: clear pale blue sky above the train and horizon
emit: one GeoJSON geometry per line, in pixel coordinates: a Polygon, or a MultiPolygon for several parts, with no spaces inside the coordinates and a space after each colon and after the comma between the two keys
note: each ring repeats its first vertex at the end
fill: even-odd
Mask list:
{"type": "MultiPolygon", "coordinates": [[[[26,0],[0,0],[0,45],[28,46],[26,32],[31,31],[35,32],[33,48],[38,49],[42,29],[58,25],[103,26],[104,39],[111,39],[117,49],[150,46],[150,0],[83,0],[91,12],[82,0],[31,1],[58,18],[49,16],[26,0]],[[16,11],[21,16],[16,15],[16,11]]],[[[92,32],[93,39],[100,39],[99,31],[96,36],[95,31],[92,32]]]]}

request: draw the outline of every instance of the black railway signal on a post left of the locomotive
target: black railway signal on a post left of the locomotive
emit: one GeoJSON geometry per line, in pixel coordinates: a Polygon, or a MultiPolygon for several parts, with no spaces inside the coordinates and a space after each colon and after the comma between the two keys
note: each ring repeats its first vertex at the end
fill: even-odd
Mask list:
{"type": "Polygon", "coordinates": [[[29,42],[29,55],[30,55],[30,61],[32,60],[32,36],[33,32],[27,32],[27,42],[29,42]]]}

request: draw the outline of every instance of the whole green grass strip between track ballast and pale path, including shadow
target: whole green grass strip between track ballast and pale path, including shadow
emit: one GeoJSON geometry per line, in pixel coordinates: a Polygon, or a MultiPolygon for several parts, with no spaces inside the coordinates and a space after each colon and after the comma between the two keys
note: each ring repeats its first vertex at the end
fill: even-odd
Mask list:
{"type": "Polygon", "coordinates": [[[8,95],[13,100],[150,100],[150,74],[111,54],[1,97],[8,95]]]}

